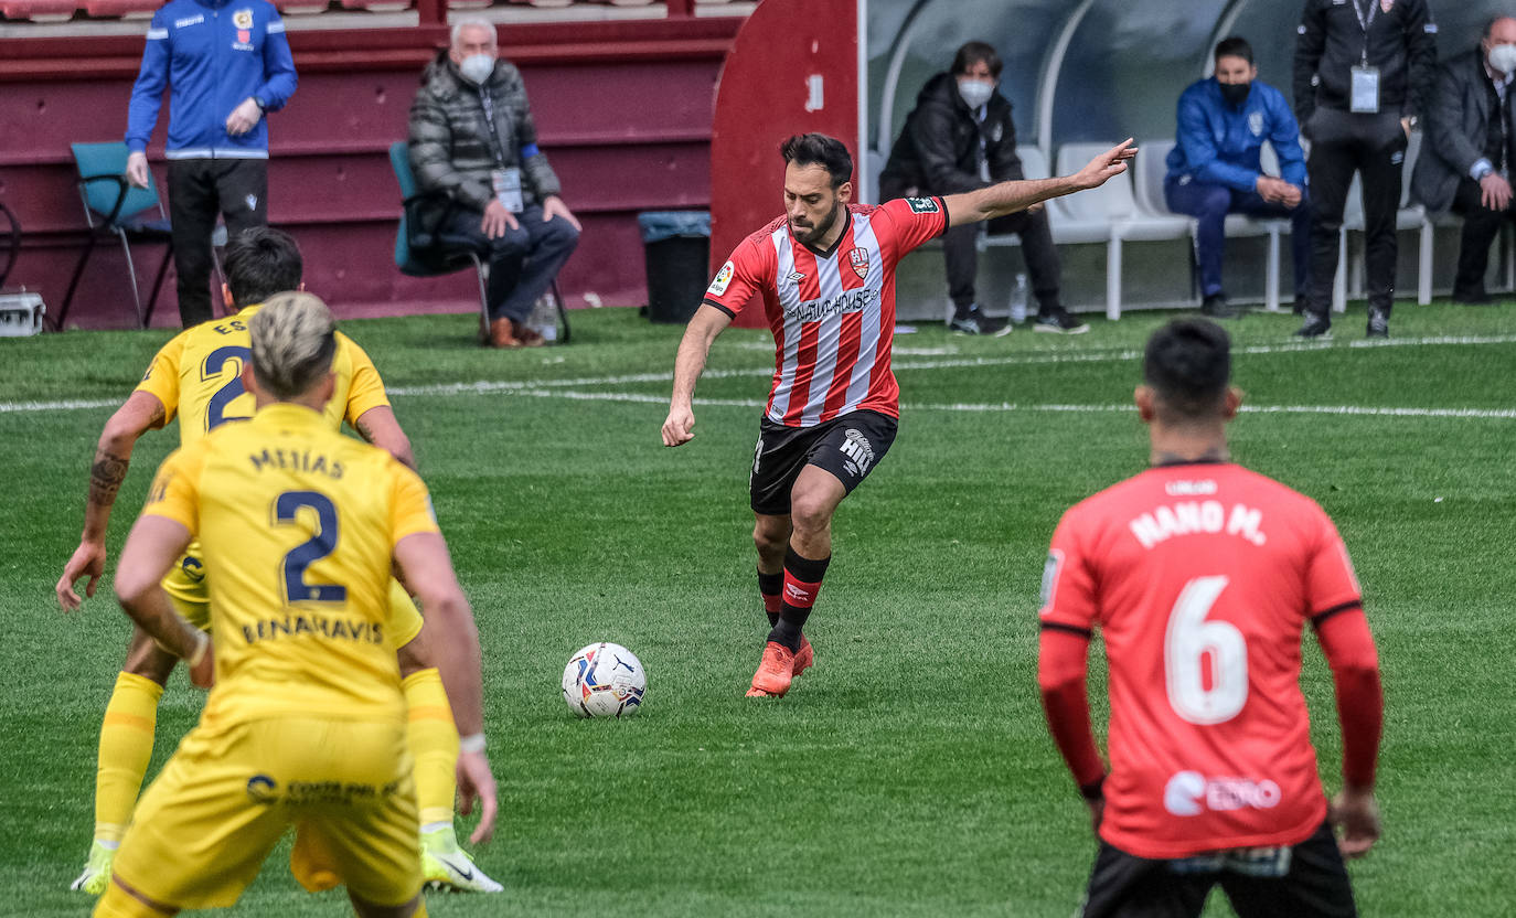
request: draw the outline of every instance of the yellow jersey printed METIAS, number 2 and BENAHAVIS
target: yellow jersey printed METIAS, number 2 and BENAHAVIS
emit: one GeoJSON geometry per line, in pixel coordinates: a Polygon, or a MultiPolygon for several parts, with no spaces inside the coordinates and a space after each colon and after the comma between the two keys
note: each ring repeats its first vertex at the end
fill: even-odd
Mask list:
{"type": "Polygon", "coordinates": [[[215,573],[203,726],[403,720],[390,565],[400,539],[438,532],[415,473],[315,411],[276,403],[164,459],[143,515],[183,524],[215,573]]]}

